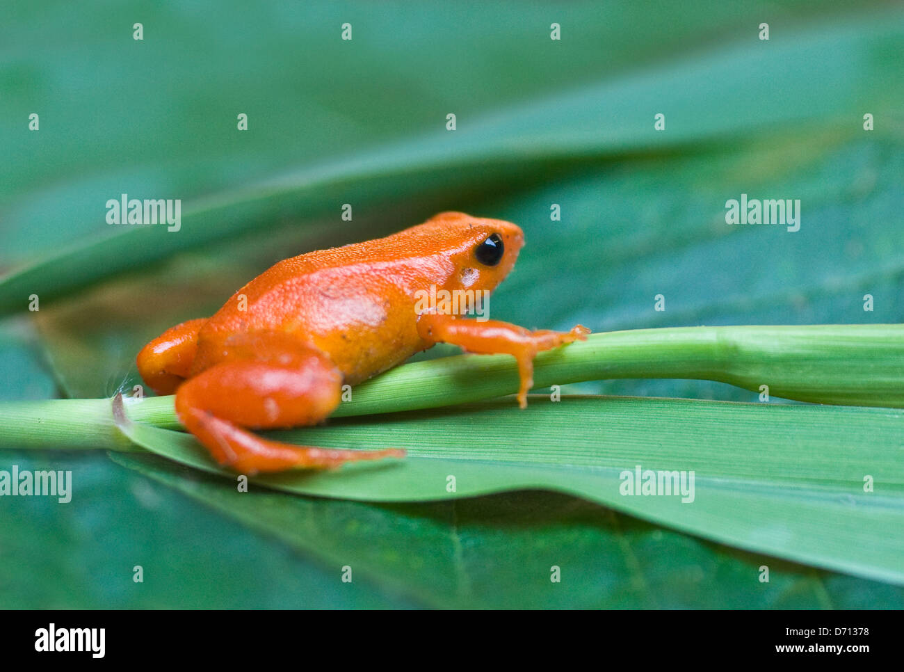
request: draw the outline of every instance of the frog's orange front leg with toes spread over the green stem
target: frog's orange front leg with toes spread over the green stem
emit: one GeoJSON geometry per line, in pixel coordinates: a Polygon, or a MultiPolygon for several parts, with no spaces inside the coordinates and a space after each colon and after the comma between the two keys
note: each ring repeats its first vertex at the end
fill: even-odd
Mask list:
{"type": "Polygon", "coordinates": [[[522,408],[527,406],[527,392],[533,386],[533,358],[537,353],[573,341],[587,340],[589,333],[587,327],[580,325],[568,332],[547,329],[531,331],[508,322],[478,322],[436,312],[424,313],[418,317],[418,334],[431,345],[451,343],[469,353],[513,355],[518,362],[518,374],[521,378],[518,403],[522,408]]]}

